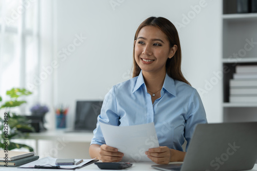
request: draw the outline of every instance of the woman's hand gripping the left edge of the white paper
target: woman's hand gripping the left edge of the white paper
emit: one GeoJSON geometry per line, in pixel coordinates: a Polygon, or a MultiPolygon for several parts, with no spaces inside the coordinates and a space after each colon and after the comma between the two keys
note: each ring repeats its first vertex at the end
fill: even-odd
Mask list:
{"type": "Polygon", "coordinates": [[[100,146],[100,157],[102,162],[119,162],[121,161],[123,153],[118,152],[117,148],[103,144],[100,146]]]}

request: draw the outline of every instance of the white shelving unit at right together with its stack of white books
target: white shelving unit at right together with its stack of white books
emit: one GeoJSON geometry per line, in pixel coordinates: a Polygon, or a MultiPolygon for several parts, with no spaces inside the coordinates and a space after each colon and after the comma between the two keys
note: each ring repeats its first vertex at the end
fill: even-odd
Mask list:
{"type": "Polygon", "coordinates": [[[223,119],[256,121],[257,13],[236,13],[236,2],[223,1],[223,119]]]}

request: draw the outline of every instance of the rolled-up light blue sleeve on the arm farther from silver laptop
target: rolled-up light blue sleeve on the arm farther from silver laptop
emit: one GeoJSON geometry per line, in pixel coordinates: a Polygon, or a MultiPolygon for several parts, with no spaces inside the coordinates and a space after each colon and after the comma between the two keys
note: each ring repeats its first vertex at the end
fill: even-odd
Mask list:
{"type": "Polygon", "coordinates": [[[97,126],[94,130],[94,137],[90,144],[105,144],[105,140],[101,131],[99,122],[119,125],[119,116],[117,115],[117,103],[115,97],[115,86],[105,95],[101,114],[97,117],[97,126]]]}

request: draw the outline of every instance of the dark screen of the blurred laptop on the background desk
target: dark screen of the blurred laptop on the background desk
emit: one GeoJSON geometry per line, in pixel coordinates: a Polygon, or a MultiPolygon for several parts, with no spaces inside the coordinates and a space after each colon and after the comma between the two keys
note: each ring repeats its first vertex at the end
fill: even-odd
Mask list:
{"type": "Polygon", "coordinates": [[[75,130],[95,130],[102,104],[103,101],[77,101],[75,130]]]}

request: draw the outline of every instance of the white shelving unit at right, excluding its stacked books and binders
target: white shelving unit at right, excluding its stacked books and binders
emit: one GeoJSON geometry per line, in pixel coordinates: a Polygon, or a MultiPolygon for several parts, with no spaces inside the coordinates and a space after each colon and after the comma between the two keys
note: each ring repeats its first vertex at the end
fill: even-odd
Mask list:
{"type": "Polygon", "coordinates": [[[235,9],[229,8],[234,8],[235,4],[226,3],[236,3],[236,1],[223,1],[223,120],[224,122],[257,121],[257,103],[229,102],[229,80],[233,78],[235,66],[257,65],[257,45],[249,45],[251,41],[257,42],[257,13],[230,14],[229,12],[235,9]]]}

